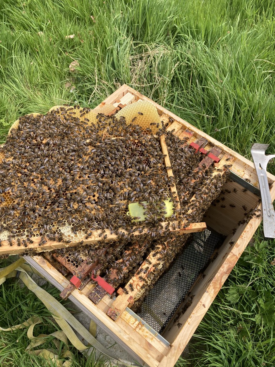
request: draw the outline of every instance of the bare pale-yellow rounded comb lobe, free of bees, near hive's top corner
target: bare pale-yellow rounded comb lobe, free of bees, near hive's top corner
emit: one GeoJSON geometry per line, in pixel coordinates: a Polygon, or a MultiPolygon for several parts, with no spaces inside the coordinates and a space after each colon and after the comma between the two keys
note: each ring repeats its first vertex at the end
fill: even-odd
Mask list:
{"type": "Polygon", "coordinates": [[[117,118],[121,116],[125,117],[127,124],[137,124],[144,131],[151,129],[153,134],[161,127],[161,120],[153,103],[142,101],[141,99],[131,105],[125,106],[115,115],[117,118]]]}

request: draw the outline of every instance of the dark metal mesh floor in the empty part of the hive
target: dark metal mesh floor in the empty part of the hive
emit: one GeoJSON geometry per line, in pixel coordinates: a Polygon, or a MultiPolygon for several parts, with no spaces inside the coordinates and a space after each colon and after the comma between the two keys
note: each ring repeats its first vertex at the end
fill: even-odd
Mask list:
{"type": "Polygon", "coordinates": [[[184,299],[199,273],[208,263],[224,236],[206,229],[194,233],[171,268],[150,290],[137,313],[155,331],[161,333],[184,299]]]}

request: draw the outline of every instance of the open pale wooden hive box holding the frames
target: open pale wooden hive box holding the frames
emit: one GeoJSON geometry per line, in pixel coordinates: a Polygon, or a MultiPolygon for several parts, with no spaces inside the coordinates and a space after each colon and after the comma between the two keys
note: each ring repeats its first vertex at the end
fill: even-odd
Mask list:
{"type": "MultiPolygon", "coordinates": [[[[87,298],[87,295],[94,288],[91,283],[88,283],[81,291],[74,290],[69,298],[142,365],[151,367],[174,366],[247,243],[260,225],[262,219],[260,215],[261,204],[259,196],[255,195],[258,181],[251,161],[126,85],[110,95],[103,104],[108,103],[117,107],[119,104],[136,103],[139,99],[153,103],[161,120],[169,123],[169,130],[178,137],[188,137],[188,143],[204,141],[204,149],[213,152],[215,152],[214,149],[218,149],[219,157],[225,161],[228,159],[227,157],[234,157],[230,161],[232,163],[230,169],[232,174],[235,174],[235,179],[225,183],[220,197],[214,201],[205,215],[206,224],[224,235],[225,240],[219,250],[214,253],[212,261],[203,271],[203,274],[199,275],[194,282],[187,297],[175,312],[162,335],[150,328],[129,308],[121,313],[117,321],[113,321],[106,315],[106,312],[115,301],[105,295],[95,305],[87,298]],[[239,178],[249,182],[247,188],[244,187],[246,185],[243,182],[239,181],[239,178]],[[249,214],[251,210],[253,212],[256,210],[256,215],[251,216],[249,214]]],[[[268,181],[271,197],[274,200],[275,177],[268,174],[268,181]]],[[[28,257],[27,261],[60,290],[70,284],[70,281],[44,257],[28,257]]]]}

